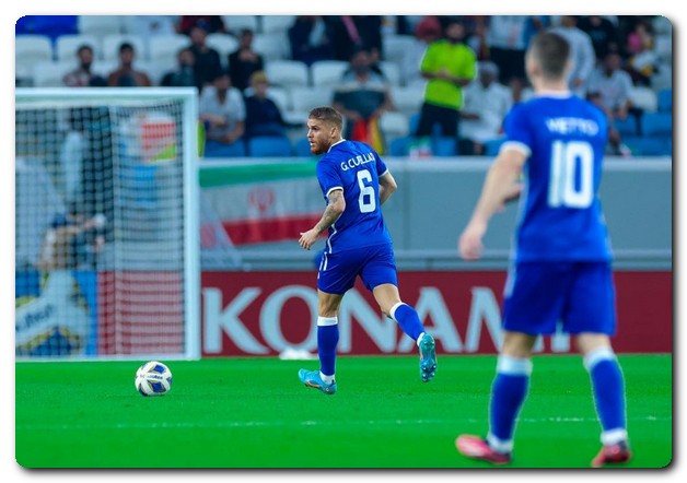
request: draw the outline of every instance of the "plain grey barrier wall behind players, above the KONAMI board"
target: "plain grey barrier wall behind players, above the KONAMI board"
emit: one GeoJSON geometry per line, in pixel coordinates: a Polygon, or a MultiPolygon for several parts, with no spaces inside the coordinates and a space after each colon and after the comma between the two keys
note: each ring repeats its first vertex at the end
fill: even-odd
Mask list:
{"type": "MultiPolygon", "coordinates": [[[[485,237],[485,258],[466,264],[456,251],[482,187],[489,161],[385,160],[398,191],[384,205],[400,270],[501,269],[506,267],[516,203],[496,215],[485,237]]],[[[671,158],[608,158],[601,198],[616,266],[626,269],[672,269],[673,169],[671,158]]],[[[295,243],[240,248],[254,270],[301,270],[312,252],[295,243]]]]}

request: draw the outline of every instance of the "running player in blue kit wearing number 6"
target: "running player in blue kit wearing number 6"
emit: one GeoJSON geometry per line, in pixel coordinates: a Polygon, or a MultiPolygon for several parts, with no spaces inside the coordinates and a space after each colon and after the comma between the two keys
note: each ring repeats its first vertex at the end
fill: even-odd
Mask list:
{"type": "Polygon", "coordinates": [[[328,237],[317,273],[319,370],[301,369],[299,378],[325,394],[336,392],[338,310],[360,276],[382,311],[416,341],[420,378],[428,382],[436,370],[434,338],[415,308],[400,301],[392,238],[382,216],[381,207],[396,190],[396,181],[372,148],[341,138],[342,122],[331,107],[316,107],[307,118],[311,152],[324,154],[317,180],[327,205],[317,224],[301,233],[299,244],[310,250],[325,231],[328,237]]]}

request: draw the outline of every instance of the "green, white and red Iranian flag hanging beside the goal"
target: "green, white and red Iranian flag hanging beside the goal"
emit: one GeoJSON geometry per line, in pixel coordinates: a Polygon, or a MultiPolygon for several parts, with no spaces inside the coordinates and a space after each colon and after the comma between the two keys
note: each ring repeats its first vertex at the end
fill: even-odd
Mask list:
{"type": "Polygon", "coordinates": [[[316,164],[202,166],[200,189],[234,245],[298,239],[325,209],[316,164]]]}

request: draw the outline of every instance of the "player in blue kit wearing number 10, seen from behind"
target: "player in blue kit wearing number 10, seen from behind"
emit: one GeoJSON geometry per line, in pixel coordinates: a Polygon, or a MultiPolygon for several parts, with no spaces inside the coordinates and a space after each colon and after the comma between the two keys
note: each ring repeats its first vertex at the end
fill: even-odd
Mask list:
{"type": "Polygon", "coordinates": [[[603,445],[592,467],[631,457],[624,376],[609,339],[616,331],[610,245],[597,195],[608,126],[598,108],[569,92],[569,55],[559,35],[533,38],[525,66],[535,97],[508,114],[506,141],[458,239],[463,258],[478,259],[490,217],[520,197],[489,432],[486,438],[462,435],[455,441],[463,455],[493,464],[512,459],[532,347],[537,335],[555,332],[558,320],[590,374],[603,445]]]}

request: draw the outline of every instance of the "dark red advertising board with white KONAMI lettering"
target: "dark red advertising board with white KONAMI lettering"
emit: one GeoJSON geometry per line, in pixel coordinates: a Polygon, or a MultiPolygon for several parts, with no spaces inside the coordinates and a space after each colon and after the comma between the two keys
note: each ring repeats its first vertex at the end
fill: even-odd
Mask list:
{"type": "MultiPolygon", "coordinates": [[[[415,306],[445,354],[493,354],[501,341],[504,271],[400,272],[404,302],[415,306]]],[[[618,353],[673,349],[671,271],[618,271],[618,353]]],[[[209,272],[201,275],[202,356],[316,352],[315,272],[209,272]]],[[[360,282],[339,313],[339,354],[409,354],[414,341],[379,309],[360,282]]],[[[544,338],[537,352],[574,352],[566,334],[544,338]]]]}

